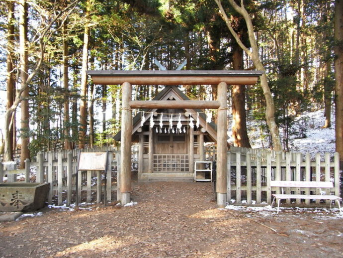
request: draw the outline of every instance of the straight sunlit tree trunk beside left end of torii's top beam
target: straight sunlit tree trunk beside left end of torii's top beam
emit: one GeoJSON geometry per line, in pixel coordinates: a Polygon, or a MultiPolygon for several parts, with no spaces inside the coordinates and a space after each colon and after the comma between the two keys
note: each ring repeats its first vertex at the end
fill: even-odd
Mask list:
{"type": "MultiPolygon", "coordinates": [[[[86,2],[86,17],[89,15],[89,0],[86,2]]],[[[88,34],[89,27],[85,24],[84,29],[84,45],[82,55],[82,70],[81,70],[81,104],[80,104],[80,131],[79,131],[79,148],[85,147],[85,137],[87,131],[87,66],[88,66],[88,34]]]]}

